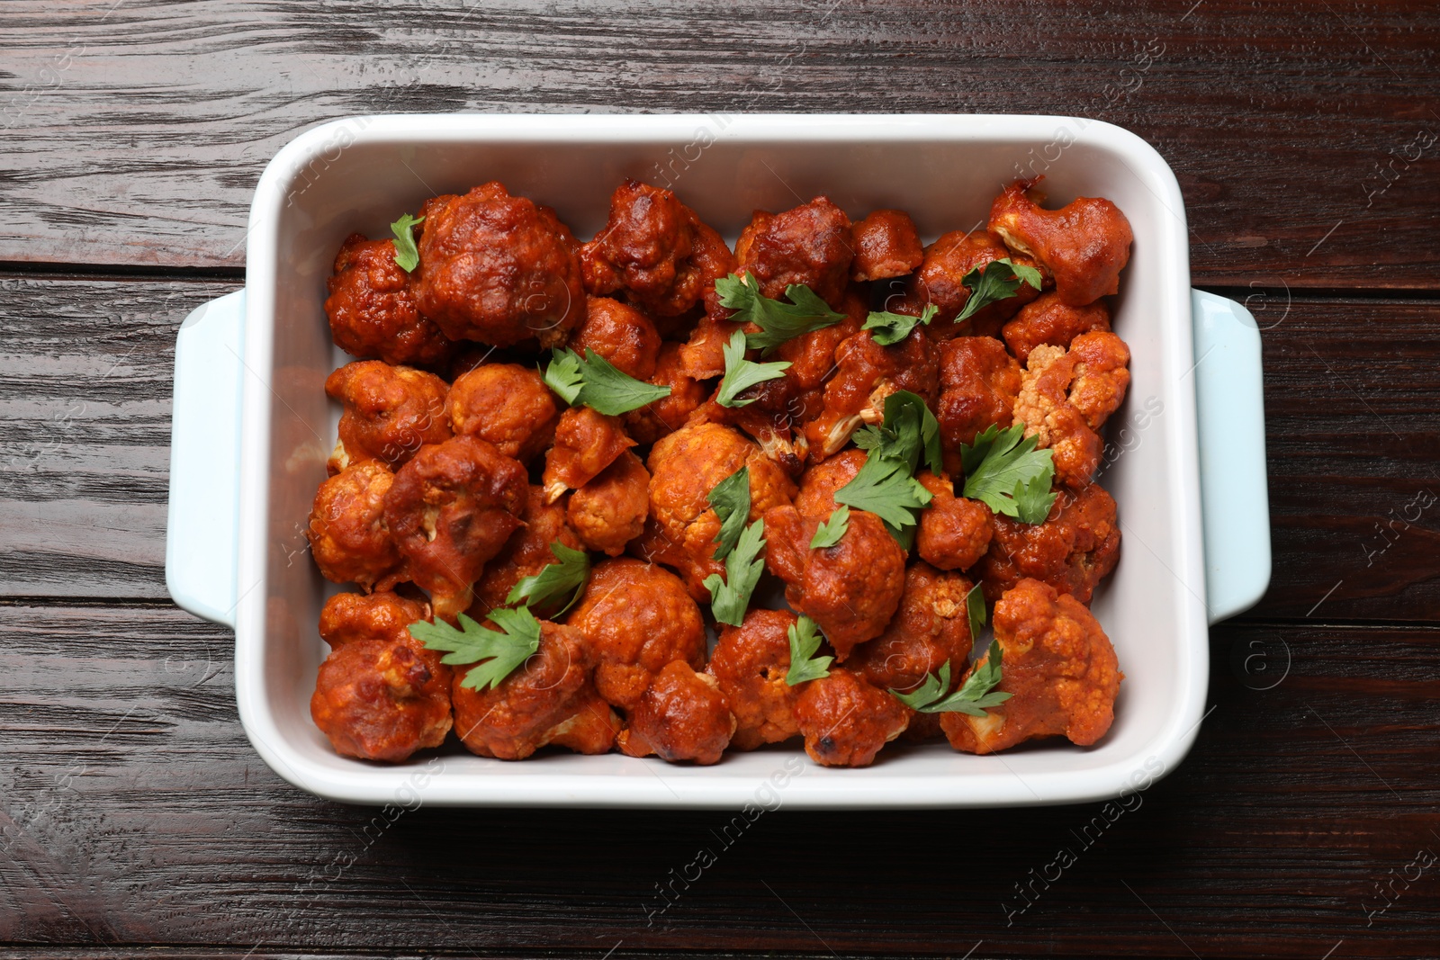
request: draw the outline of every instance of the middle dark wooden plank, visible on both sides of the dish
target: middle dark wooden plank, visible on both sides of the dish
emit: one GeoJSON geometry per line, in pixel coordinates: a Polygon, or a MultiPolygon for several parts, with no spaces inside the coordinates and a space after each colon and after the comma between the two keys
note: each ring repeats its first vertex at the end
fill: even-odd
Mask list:
{"type": "MultiPolygon", "coordinates": [[[[0,596],[168,596],[174,335],[233,286],[0,281],[0,596]]],[[[1261,291],[1250,305],[1274,544],[1256,615],[1323,599],[1326,619],[1440,620],[1440,301],[1261,291]]]]}

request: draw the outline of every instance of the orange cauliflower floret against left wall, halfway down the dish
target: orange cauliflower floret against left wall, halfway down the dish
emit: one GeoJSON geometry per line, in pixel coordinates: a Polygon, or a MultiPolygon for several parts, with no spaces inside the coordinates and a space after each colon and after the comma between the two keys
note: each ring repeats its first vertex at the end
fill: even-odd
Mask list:
{"type": "Polygon", "coordinates": [[[384,498],[395,475],[383,463],[344,469],[315,491],[305,538],[327,580],[389,590],[409,579],[400,548],[384,521],[384,498]]]}

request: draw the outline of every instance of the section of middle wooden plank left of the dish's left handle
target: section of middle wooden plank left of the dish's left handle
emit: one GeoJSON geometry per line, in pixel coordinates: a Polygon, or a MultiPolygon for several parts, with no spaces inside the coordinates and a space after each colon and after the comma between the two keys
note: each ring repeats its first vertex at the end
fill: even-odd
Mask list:
{"type": "Polygon", "coordinates": [[[0,593],[167,596],[176,331],[236,286],[0,279],[0,593]]]}

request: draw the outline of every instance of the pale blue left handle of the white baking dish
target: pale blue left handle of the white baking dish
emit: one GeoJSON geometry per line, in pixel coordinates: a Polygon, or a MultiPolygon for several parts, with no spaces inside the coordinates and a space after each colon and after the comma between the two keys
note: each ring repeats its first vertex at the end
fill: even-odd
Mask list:
{"type": "Polygon", "coordinates": [[[245,291],[196,307],[176,337],[166,587],[181,607],[235,626],[245,291]]]}

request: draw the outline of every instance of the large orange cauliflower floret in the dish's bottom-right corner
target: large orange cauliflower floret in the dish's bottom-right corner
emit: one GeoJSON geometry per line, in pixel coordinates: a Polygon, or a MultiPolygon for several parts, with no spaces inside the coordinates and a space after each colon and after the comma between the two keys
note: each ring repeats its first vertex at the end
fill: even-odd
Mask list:
{"type": "MultiPolygon", "coordinates": [[[[1021,580],[995,604],[1002,672],[1011,694],[985,717],[945,714],[940,727],[965,753],[995,753],[1037,737],[1087,747],[1110,728],[1122,674],[1115,648],[1077,599],[1021,580]]],[[[978,665],[976,665],[978,666],[978,665]]]]}

